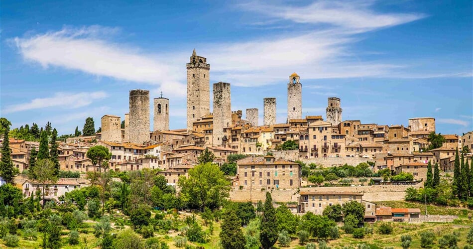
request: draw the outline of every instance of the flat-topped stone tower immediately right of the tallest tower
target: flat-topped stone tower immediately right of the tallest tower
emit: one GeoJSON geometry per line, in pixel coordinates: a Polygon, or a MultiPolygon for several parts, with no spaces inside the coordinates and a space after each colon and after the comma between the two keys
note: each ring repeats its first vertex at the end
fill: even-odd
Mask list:
{"type": "Polygon", "coordinates": [[[224,128],[232,126],[232,104],[230,83],[214,84],[214,130],[213,145],[221,146],[224,138],[224,128]]]}

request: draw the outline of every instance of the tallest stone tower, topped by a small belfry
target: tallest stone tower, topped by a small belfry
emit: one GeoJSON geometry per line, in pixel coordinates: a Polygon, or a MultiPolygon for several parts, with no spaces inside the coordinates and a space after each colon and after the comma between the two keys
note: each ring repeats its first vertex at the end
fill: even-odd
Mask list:
{"type": "Polygon", "coordinates": [[[187,63],[187,130],[192,123],[210,113],[210,64],[207,59],[192,52],[187,63]]]}

